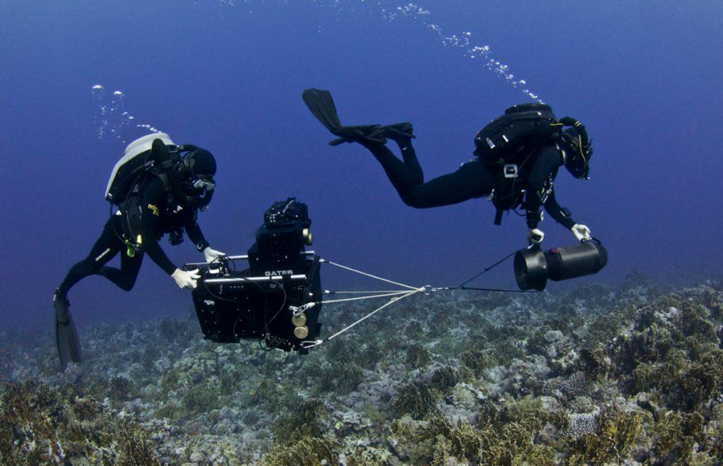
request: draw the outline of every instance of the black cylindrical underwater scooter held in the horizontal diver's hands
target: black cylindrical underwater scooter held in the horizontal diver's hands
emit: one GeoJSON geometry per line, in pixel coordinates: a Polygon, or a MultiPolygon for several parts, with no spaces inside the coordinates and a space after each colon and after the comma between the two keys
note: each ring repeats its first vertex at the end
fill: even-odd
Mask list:
{"type": "Polygon", "coordinates": [[[576,246],[542,251],[539,246],[521,249],[515,254],[515,280],[521,290],[544,290],[547,279],[553,282],[593,275],[607,264],[607,250],[597,240],[581,241],[576,246]]]}

